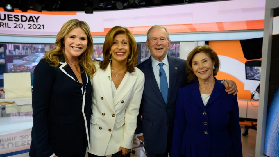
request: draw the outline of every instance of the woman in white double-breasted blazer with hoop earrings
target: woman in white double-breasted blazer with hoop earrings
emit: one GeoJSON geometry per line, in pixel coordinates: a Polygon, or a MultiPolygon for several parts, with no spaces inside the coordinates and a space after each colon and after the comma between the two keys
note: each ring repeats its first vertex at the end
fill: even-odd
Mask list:
{"type": "Polygon", "coordinates": [[[103,61],[92,77],[89,157],[129,156],[144,88],[144,74],[135,67],[137,44],[127,28],[113,27],[105,36],[103,61]]]}

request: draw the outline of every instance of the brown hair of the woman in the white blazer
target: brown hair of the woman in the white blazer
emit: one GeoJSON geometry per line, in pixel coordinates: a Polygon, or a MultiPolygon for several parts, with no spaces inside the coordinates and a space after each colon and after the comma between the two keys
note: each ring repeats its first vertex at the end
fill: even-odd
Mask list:
{"type": "Polygon", "coordinates": [[[133,36],[133,34],[125,27],[121,26],[115,26],[108,31],[107,35],[105,36],[105,42],[103,45],[103,58],[104,60],[100,62],[100,68],[102,70],[105,70],[108,67],[108,64],[110,63],[109,55],[110,55],[110,49],[113,44],[113,38],[116,35],[119,34],[125,34],[128,36],[128,42],[129,42],[129,48],[130,48],[130,54],[132,55],[130,60],[127,60],[127,71],[128,72],[135,72],[135,66],[137,65],[137,42],[133,36]]]}

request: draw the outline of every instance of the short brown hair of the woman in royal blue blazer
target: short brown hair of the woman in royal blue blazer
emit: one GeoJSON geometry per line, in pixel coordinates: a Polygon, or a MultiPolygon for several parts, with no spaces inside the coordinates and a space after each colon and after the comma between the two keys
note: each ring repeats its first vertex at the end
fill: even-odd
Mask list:
{"type": "Polygon", "coordinates": [[[189,82],[194,82],[197,80],[197,76],[194,74],[192,69],[192,60],[197,53],[201,53],[201,52],[207,54],[211,58],[212,62],[214,62],[215,69],[213,70],[213,76],[216,76],[217,72],[219,71],[220,60],[218,58],[217,53],[208,45],[197,46],[187,56],[186,65],[187,65],[187,78],[189,82]]]}

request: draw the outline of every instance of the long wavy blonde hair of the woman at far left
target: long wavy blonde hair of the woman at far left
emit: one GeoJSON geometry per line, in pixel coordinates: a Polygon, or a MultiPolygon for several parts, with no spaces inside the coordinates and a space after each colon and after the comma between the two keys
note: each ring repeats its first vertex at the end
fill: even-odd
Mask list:
{"type": "Polygon", "coordinates": [[[83,67],[83,72],[86,72],[87,75],[93,76],[93,74],[96,72],[96,67],[93,64],[93,61],[91,59],[92,53],[93,53],[93,40],[90,33],[90,28],[84,21],[79,21],[77,19],[71,19],[65,24],[63,24],[61,30],[56,35],[56,41],[55,46],[53,49],[49,50],[45,56],[42,59],[46,59],[48,62],[51,62],[51,66],[58,67],[59,65],[59,56],[63,55],[65,57],[65,60],[67,62],[67,57],[65,56],[64,51],[64,38],[65,36],[74,28],[81,28],[85,34],[87,35],[87,47],[85,51],[78,56],[78,62],[77,65],[81,65],[83,67]]]}

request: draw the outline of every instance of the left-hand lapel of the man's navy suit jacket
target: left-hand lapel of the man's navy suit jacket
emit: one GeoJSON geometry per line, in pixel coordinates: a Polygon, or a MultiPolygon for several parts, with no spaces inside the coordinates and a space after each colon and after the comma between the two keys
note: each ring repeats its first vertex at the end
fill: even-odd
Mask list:
{"type": "Polygon", "coordinates": [[[155,79],[155,76],[154,76],[154,72],[153,72],[153,67],[152,67],[152,62],[151,62],[151,56],[148,58],[148,60],[146,60],[145,64],[145,78],[148,80],[151,88],[154,90],[155,94],[158,96],[158,98],[163,102],[165,103],[163,97],[162,97],[162,94],[160,92],[160,89],[158,87],[158,83],[155,79]]]}

